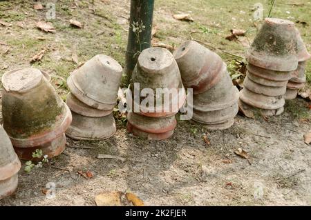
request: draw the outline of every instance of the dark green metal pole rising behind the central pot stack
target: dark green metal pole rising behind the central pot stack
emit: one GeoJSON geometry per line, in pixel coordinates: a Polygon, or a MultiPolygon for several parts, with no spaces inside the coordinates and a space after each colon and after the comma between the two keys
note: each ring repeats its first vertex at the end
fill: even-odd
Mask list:
{"type": "Polygon", "coordinates": [[[131,79],[140,52],[151,47],[153,7],[154,0],[131,0],[129,40],[124,68],[128,82],[131,79]]]}

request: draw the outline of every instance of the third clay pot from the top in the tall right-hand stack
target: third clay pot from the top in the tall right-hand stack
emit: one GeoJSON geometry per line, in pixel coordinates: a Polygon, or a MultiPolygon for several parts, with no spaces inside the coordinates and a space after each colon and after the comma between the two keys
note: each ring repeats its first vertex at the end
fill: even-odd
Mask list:
{"type": "Polygon", "coordinates": [[[286,86],[275,87],[275,86],[263,86],[249,79],[248,76],[245,77],[243,81],[243,86],[252,92],[257,94],[264,94],[268,97],[276,97],[285,94],[286,86]]]}

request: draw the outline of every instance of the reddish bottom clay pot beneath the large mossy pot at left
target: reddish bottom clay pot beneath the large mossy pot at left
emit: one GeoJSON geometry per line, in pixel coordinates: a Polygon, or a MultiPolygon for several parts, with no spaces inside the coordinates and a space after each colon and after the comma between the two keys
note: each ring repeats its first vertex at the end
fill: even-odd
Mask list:
{"type": "Polygon", "coordinates": [[[32,160],[32,161],[41,161],[42,158],[33,158],[32,152],[35,152],[37,149],[42,150],[42,155],[48,155],[48,158],[53,158],[62,154],[66,149],[66,136],[62,134],[60,137],[57,137],[53,141],[49,141],[40,146],[35,146],[32,148],[14,148],[19,159],[22,160],[32,160]]]}

